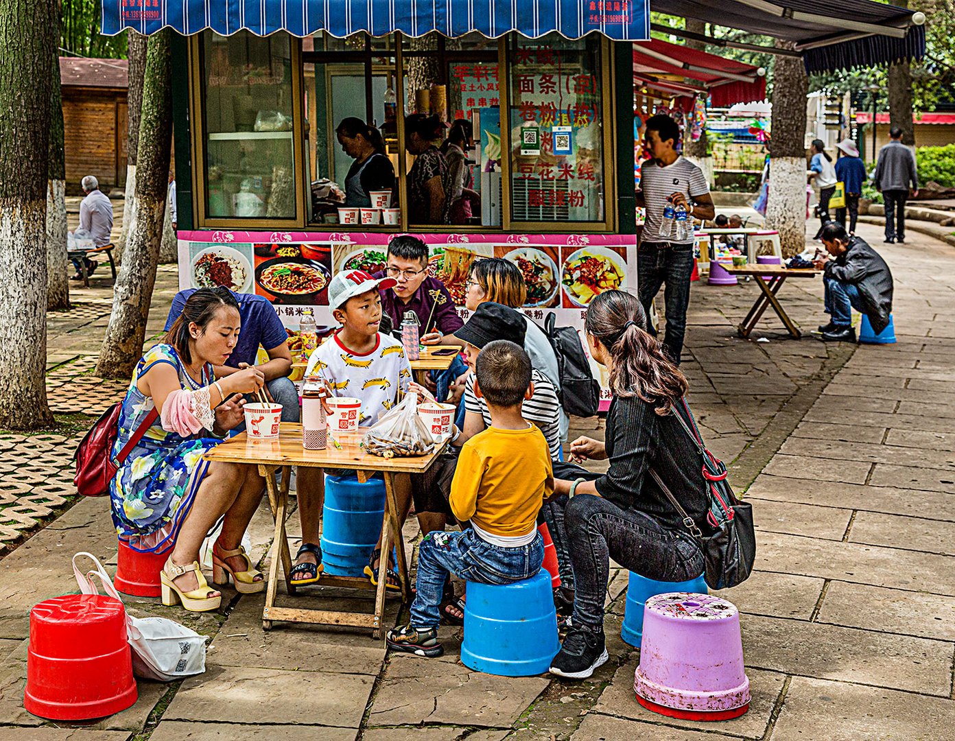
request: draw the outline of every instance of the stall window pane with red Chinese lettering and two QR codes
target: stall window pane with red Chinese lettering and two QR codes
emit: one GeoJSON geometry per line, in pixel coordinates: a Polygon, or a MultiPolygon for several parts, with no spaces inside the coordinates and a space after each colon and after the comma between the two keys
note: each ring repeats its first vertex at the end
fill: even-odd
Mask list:
{"type": "Polygon", "coordinates": [[[558,33],[511,35],[511,223],[609,227],[613,178],[605,166],[611,126],[605,124],[604,52],[595,34],[577,40],[558,33]]]}

